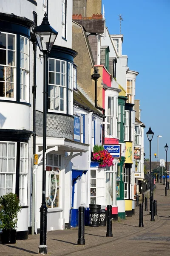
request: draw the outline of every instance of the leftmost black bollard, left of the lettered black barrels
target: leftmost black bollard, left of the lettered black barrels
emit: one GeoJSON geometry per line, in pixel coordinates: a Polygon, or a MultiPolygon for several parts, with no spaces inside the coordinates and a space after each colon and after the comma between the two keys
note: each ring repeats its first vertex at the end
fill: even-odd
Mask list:
{"type": "Polygon", "coordinates": [[[85,244],[85,207],[79,207],[79,231],[77,244],[85,244]]]}

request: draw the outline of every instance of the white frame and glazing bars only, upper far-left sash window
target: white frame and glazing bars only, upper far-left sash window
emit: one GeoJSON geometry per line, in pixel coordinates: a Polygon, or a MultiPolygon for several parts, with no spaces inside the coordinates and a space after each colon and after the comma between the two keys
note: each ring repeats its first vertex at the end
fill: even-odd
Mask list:
{"type": "Polygon", "coordinates": [[[2,34],[6,35],[6,49],[4,49],[4,48],[0,48],[0,49],[6,51],[6,64],[0,64],[0,67],[5,67],[5,81],[3,81],[3,82],[5,82],[5,91],[6,91],[6,83],[13,84],[14,97],[12,98],[12,97],[0,96],[0,100],[16,101],[16,97],[17,97],[17,79],[16,79],[16,77],[17,77],[17,34],[8,33],[8,32],[1,32],[1,35],[2,34]],[[14,50],[8,49],[8,35],[14,35],[14,50]],[[14,52],[14,66],[7,65],[8,64],[8,51],[14,52]],[[13,72],[14,72],[14,74],[13,74],[13,82],[6,81],[7,67],[10,67],[10,68],[12,67],[13,68],[13,72]]]}

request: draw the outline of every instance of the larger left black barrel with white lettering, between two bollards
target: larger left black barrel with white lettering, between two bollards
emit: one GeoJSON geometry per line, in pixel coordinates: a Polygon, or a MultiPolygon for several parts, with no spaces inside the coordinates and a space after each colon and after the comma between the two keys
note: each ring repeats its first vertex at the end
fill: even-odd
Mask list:
{"type": "Polygon", "coordinates": [[[89,204],[89,226],[99,227],[101,205],[89,204]]]}

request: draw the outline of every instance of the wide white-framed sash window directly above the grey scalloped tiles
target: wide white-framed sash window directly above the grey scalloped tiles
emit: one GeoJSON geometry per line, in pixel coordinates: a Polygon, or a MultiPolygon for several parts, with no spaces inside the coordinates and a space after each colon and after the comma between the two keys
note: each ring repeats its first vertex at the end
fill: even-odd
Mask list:
{"type": "Polygon", "coordinates": [[[66,112],[66,62],[48,59],[48,109],[66,112]]]}

